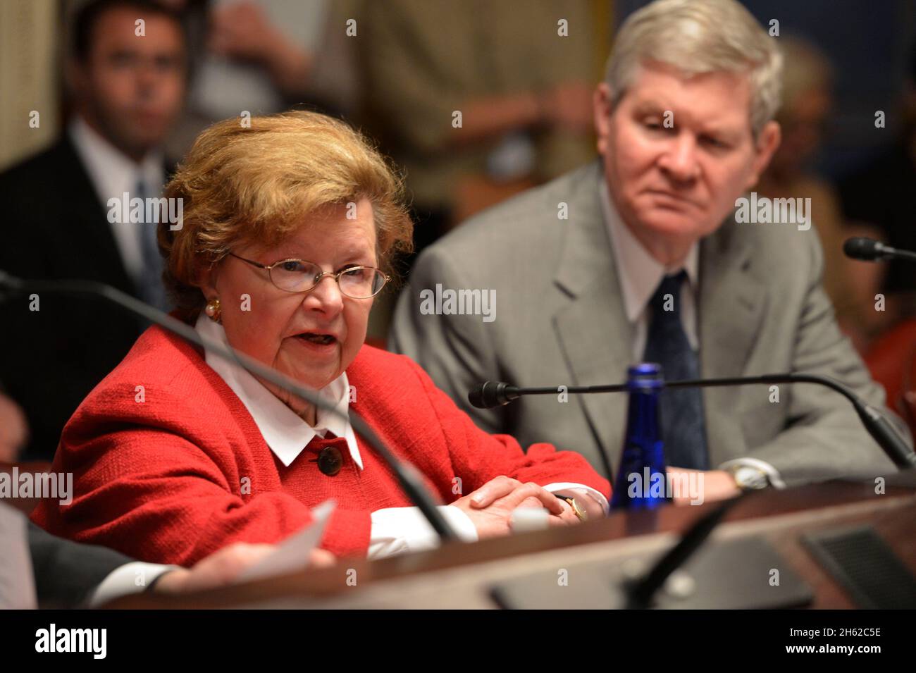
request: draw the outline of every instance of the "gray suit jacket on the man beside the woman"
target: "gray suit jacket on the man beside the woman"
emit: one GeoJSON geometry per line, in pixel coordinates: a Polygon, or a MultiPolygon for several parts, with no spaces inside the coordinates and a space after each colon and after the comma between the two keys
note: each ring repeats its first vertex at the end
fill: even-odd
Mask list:
{"type": "MultiPolygon", "coordinates": [[[[502,203],[424,251],[398,299],[390,346],[414,358],[483,429],[523,446],[580,451],[600,472],[616,468],[626,426],[619,394],[529,396],[480,410],[468,390],[487,379],[515,385],[598,385],[626,380],[632,328],[601,210],[598,162],[502,203]],[[568,204],[568,220],[558,218],[568,204]],[[427,315],[420,292],[496,291],[495,320],[427,315]]],[[[821,288],[813,228],[729,219],[701,242],[697,326],[703,377],[826,374],[877,407],[884,393],[837,329],[821,288]]],[[[786,483],[893,472],[844,397],[821,386],[703,389],[710,464],[750,456],[786,483]]],[[[906,434],[899,418],[897,427],[906,434]]]]}

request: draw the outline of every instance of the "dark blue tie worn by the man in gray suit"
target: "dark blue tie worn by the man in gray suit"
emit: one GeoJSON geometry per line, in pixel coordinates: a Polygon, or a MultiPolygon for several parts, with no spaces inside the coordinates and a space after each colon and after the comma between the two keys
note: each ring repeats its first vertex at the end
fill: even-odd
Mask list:
{"type": "MultiPolygon", "coordinates": [[[[649,301],[651,315],[643,361],[659,363],[667,381],[700,377],[700,360],[687,340],[681,320],[681,286],[686,277],[687,273],[681,271],[662,278],[649,301]]],[[[660,416],[668,464],[709,469],[700,388],[663,390],[660,416]]]]}

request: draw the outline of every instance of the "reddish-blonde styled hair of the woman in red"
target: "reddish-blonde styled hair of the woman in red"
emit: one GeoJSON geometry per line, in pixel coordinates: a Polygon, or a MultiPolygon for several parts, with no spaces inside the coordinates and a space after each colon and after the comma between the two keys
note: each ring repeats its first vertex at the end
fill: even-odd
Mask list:
{"type": "Polygon", "coordinates": [[[166,185],[166,198],[182,200],[183,222],[175,231],[160,223],[158,243],[163,280],[184,320],[203,308],[202,271],[239,244],[280,243],[326,207],[372,203],[378,266],[388,274],[394,255],[412,249],[403,177],[364,136],[311,112],[250,121],[204,130],[166,185]]]}

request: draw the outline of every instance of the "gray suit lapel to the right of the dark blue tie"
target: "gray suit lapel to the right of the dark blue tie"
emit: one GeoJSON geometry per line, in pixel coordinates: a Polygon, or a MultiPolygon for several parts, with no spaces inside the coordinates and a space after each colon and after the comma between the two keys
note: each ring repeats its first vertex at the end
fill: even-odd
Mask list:
{"type": "MultiPolygon", "coordinates": [[[[747,236],[729,220],[703,240],[700,248],[698,325],[700,371],[706,377],[740,376],[754,349],[767,306],[766,285],[752,273],[747,236]]],[[[735,411],[736,388],[705,388],[703,408],[711,464],[729,455],[745,440],[735,411]]]]}

